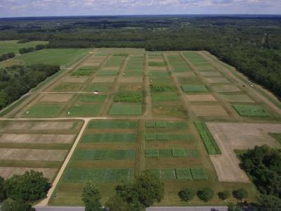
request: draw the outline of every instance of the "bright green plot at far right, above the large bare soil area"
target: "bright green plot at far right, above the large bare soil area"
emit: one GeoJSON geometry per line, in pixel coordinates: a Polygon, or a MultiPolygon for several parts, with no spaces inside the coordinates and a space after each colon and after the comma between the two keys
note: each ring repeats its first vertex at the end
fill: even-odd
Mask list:
{"type": "Polygon", "coordinates": [[[243,117],[270,117],[263,107],[256,105],[233,105],[233,108],[243,117]]]}

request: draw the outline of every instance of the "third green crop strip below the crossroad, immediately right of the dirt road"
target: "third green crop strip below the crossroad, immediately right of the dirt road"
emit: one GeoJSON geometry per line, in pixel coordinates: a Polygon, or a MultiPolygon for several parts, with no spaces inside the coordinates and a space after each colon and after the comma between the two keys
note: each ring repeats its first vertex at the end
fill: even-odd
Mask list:
{"type": "Polygon", "coordinates": [[[74,160],[134,160],[134,150],[78,150],[74,160]]]}

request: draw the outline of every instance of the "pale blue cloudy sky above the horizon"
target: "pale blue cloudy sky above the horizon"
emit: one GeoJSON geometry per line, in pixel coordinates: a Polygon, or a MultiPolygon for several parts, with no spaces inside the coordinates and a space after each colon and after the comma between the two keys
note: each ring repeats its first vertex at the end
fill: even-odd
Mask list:
{"type": "Polygon", "coordinates": [[[0,0],[0,17],[281,14],[281,0],[0,0]]]}

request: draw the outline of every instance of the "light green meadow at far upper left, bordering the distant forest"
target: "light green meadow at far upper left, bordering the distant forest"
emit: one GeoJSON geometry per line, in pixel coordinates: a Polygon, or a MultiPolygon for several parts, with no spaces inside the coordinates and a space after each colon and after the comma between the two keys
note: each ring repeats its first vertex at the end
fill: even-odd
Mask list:
{"type": "Polygon", "coordinates": [[[0,41],[0,55],[4,53],[19,53],[19,49],[35,47],[39,44],[48,44],[48,41],[29,41],[27,43],[17,43],[18,40],[0,41]]]}

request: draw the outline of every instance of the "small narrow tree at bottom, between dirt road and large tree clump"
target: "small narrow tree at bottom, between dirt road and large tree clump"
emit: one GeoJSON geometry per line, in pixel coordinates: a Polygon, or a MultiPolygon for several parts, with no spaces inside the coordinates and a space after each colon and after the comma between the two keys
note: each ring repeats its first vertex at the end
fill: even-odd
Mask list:
{"type": "Polygon", "coordinates": [[[87,183],[82,193],[82,200],[86,211],[101,210],[100,191],[95,184],[87,183]]]}

